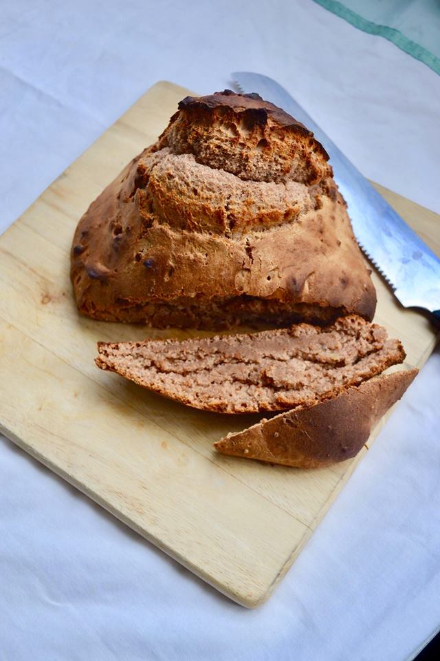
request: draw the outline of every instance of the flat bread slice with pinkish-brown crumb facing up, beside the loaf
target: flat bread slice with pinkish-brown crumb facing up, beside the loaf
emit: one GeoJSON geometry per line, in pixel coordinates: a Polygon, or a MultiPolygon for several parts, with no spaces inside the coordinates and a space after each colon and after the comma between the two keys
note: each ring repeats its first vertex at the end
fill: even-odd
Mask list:
{"type": "Polygon", "coordinates": [[[96,364],[195,408],[223,413],[310,406],[361,384],[405,353],[397,339],[351,315],[252,335],[98,343],[96,364]]]}

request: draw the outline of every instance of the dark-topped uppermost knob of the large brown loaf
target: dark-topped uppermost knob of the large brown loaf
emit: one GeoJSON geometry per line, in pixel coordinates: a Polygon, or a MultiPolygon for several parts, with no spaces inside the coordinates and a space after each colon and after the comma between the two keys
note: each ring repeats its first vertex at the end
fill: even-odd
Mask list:
{"type": "Polygon", "coordinates": [[[162,147],[194,154],[198,162],[246,180],[311,185],[332,176],[314,134],[259,94],[187,96],[159,138],[162,147]]]}

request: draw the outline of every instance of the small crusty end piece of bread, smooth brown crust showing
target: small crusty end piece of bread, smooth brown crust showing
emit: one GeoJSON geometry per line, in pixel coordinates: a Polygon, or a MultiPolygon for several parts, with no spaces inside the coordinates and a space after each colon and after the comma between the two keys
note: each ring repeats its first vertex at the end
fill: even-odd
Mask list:
{"type": "Polygon", "coordinates": [[[417,370],[373,377],[313,406],[298,406],[214,443],[223,454],[296,468],[355,457],[417,370]]]}

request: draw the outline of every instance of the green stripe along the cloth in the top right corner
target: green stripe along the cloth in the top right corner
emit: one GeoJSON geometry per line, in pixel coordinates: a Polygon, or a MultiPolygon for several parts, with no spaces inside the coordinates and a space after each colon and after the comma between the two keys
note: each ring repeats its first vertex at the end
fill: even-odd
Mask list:
{"type": "Polygon", "coordinates": [[[351,23],[351,25],[354,25],[355,28],[359,28],[359,30],[363,30],[364,32],[369,32],[369,34],[383,36],[385,39],[388,39],[388,41],[392,41],[396,46],[401,48],[401,50],[408,53],[408,55],[412,55],[412,57],[423,62],[423,64],[430,67],[432,71],[440,75],[440,59],[429,50],[426,50],[426,48],[423,48],[423,46],[408,39],[404,34],[399,32],[399,30],[388,28],[386,25],[377,25],[377,23],[368,21],[336,0],[314,1],[318,3],[318,5],[333,12],[333,14],[338,14],[342,19],[345,19],[351,23]]]}

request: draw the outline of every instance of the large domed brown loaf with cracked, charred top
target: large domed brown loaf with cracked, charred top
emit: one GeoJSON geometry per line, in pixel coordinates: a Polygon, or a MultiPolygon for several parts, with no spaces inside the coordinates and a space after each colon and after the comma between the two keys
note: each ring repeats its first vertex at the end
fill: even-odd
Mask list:
{"type": "Polygon", "coordinates": [[[325,149],[256,94],[181,101],[90,205],[71,259],[94,319],[217,329],[375,311],[325,149]]]}

